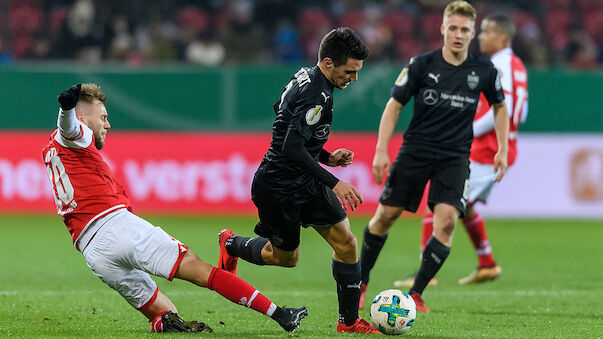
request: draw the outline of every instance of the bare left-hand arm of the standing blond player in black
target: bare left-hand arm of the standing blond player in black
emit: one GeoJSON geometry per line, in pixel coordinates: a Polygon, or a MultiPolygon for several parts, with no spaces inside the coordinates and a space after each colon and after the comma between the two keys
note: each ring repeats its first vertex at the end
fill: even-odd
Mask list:
{"type": "Polygon", "coordinates": [[[379,185],[383,183],[385,176],[389,174],[390,161],[387,147],[389,140],[394,134],[403,107],[404,105],[398,102],[398,100],[389,98],[381,115],[377,147],[375,149],[375,157],[373,158],[373,178],[375,178],[375,182],[379,185]],[[383,175],[384,171],[385,176],[383,175]]]}

